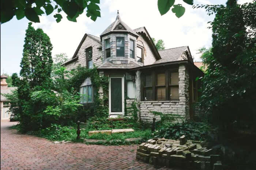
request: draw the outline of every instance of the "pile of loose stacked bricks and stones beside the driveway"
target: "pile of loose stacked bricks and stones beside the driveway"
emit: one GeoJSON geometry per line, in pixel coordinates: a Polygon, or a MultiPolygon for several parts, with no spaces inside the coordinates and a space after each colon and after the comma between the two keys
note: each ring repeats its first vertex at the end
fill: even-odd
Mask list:
{"type": "Polygon", "coordinates": [[[193,170],[223,170],[221,157],[213,149],[200,145],[200,141],[149,139],[137,149],[136,158],[155,166],[183,167],[193,170]]]}

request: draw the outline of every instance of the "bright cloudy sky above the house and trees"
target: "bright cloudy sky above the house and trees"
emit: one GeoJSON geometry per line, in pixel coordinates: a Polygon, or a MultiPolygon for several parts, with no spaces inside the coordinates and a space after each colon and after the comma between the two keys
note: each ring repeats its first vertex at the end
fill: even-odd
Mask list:
{"type": "MultiPolygon", "coordinates": [[[[238,3],[252,0],[238,0],[238,3]]],[[[194,0],[194,4],[225,4],[226,0],[194,0]]],[[[151,37],[165,43],[165,49],[189,46],[195,61],[200,61],[197,50],[211,46],[211,29],[208,21],[214,16],[206,15],[204,9],[192,9],[192,5],[176,0],[185,7],[185,14],[177,18],[170,10],[161,16],[157,8],[157,0],[101,0],[101,17],[94,22],[86,17],[84,12],[77,19],[77,23],[68,21],[63,14],[60,23],[56,23],[52,15],[40,16],[40,23],[33,23],[35,28],[42,28],[50,37],[53,44],[52,56],[66,53],[72,57],[84,33],[99,36],[115,19],[117,10],[121,19],[132,29],[146,27],[151,37]]],[[[25,17],[13,19],[1,24],[1,75],[19,74],[20,61],[29,20],[25,17]]]]}

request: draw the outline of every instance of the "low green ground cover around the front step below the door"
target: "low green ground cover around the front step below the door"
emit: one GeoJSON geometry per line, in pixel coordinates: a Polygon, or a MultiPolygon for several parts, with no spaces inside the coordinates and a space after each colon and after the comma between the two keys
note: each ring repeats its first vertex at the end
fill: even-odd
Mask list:
{"type": "MultiPolygon", "coordinates": [[[[13,129],[19,129],[19,124],[12,126],[13,129]]],[[[125,118],[123,121],[112,121],[107,118],[93,117],[88,120],[87,126],[80,125],[81,133],[79,140],[76,140],[77,125],[75,123],[70,126],[61,126],[59,124],[52,124],[50,127],[41,129],[39,131],[30,131],[27,134],[36,135],[38,137],[49,139],[50,141],[73,141],[83,142],[84,139],[103,139],[107,142],[97,142],[93,144],[98,145],[130,145],[141,143],[152,137],[151,129],[148,124],[137,123],[133,119],[125,118]],[[132,128],[135,131],[129,133],[115,133],[112,135],[107,134],[94,134],[89,136],[88,131],[91,130],[111,130],[111,129],[127,129],[132,128]],[[128,142],[127,138],[142,138],[141,141],[128,142]]],[[[88,143],[89,144],[89,143],[88,143]]]]}

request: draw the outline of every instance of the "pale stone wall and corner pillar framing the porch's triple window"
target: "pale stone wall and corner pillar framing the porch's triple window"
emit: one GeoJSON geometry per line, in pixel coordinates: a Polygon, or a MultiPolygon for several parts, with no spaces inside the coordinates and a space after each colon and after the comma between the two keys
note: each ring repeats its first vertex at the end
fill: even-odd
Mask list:
{"type": "MultiPolygon", "coordinates": [[[[154,114],[151,111],[162,112],[164,114],[176,114],[184,119],[189,119],[189,75],[185,65],[179,66],[179,100],[167,101],[141,101],[140,119],[152,122],[154,114]]],[[[155,117],[160,120],[160,116],[155,117]]]]}

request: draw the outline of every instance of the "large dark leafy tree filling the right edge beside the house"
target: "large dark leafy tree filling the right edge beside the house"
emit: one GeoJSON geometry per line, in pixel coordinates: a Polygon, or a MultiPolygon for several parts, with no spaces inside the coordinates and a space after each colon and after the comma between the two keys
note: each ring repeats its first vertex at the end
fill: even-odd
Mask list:
{"type": "Polygon", "coordinates": [[[202,55],[208,68],[200,106],[225,130],[234,122],[256,130],[256,3],[228,0],[227,6],[205,7],[216,16],[212,48],[202,55]]]}

